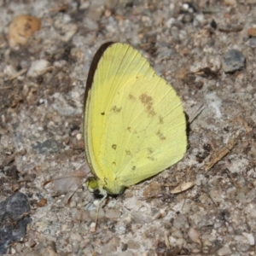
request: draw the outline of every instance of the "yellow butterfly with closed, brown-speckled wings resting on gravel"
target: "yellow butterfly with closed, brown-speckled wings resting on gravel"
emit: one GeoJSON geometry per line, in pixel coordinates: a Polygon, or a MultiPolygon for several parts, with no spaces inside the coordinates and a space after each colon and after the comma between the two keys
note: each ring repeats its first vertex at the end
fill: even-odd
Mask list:
{"type": "Polygon", "coordinates": [[[182,102],[129,44],[106,43],[90,66],[84,96],[84,146],[95,177],[89,189],[119,195],[183,158],[182,102]]]}

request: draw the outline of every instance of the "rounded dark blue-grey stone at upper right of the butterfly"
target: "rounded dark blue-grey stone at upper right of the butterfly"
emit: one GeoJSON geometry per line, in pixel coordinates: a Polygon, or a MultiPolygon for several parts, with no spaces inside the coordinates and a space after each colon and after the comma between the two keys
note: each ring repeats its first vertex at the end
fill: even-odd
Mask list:
{"type": "Polygon", "coordinates": [[[246,58],[238,49],[230,49],[224,54],[223,68],[225,73],[232,73],[244,67],[246,58]]]}

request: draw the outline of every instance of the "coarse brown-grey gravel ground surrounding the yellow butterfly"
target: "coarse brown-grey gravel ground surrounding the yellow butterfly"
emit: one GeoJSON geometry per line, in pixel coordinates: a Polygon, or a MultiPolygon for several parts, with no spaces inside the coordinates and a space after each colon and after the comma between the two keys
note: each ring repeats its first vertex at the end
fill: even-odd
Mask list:
{"type": "Polygon", "coordinates": [[[19,190],[32,218],[10,254],[256,254],[255,0],[26,0],[0,8],[0,199],[19,190]],[[20,47],[8,40],[17,15],[41,20],[20,47]],[[93,232],[99,199],[79,186],[90,172],[84,87],[108,41],[139,49],[177,90],[189,148],[177,165],[109,197],[93,232]],[[43,185],[55,177],[66,178],[43,185]],[[171,193],[188,182],[195,186],[171,193]]]}

